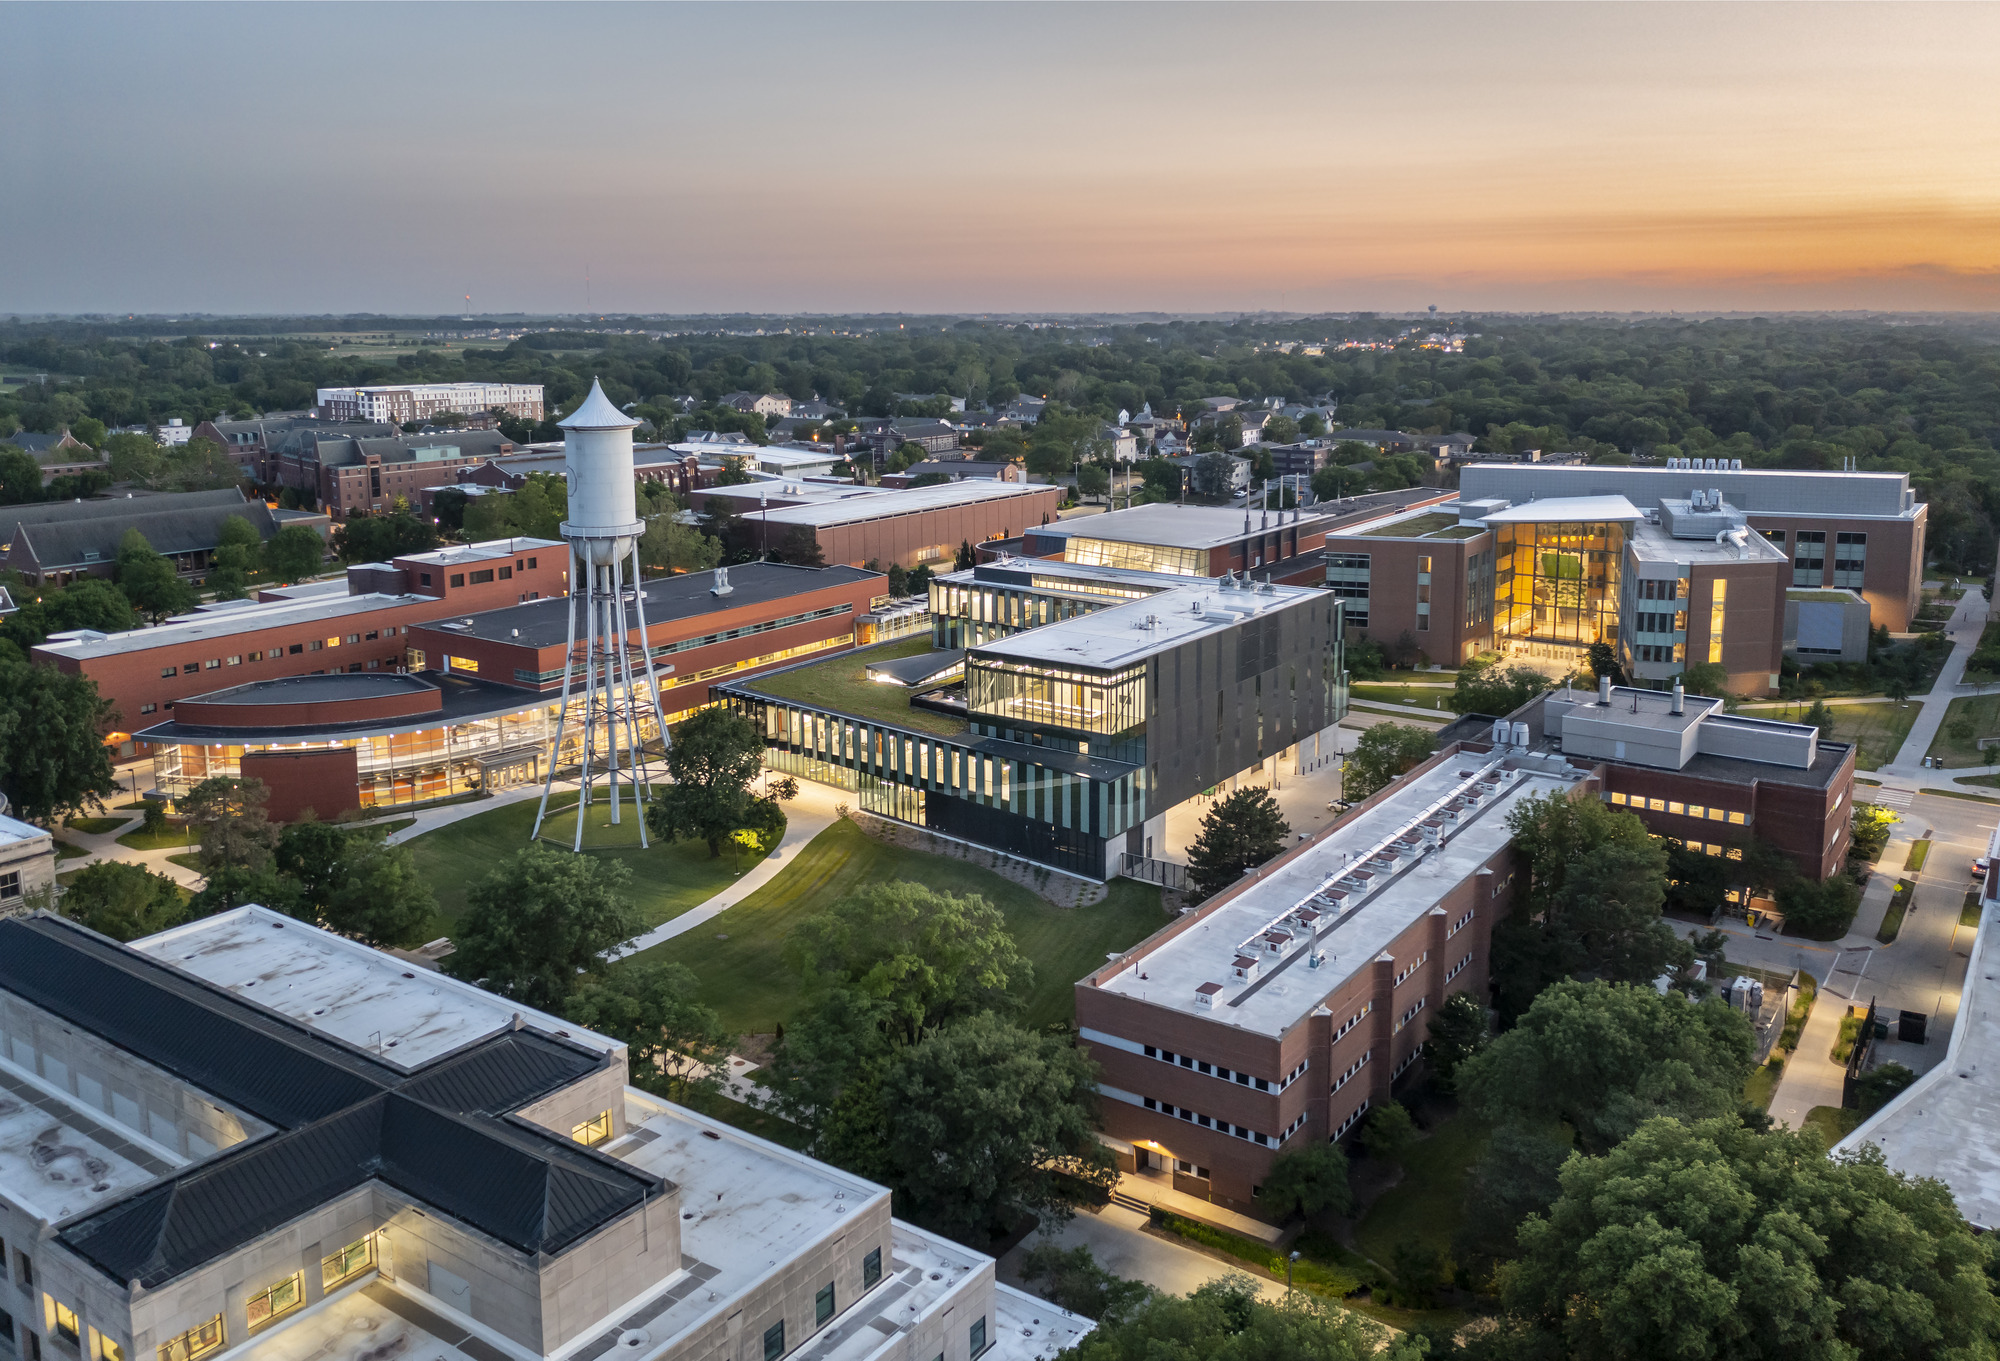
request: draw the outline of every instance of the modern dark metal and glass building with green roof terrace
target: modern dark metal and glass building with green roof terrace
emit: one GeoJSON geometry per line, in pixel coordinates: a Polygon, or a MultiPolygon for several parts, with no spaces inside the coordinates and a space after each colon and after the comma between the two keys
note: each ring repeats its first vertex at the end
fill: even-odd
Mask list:
{"type": "Polygon", "coordinates": [[[1314,588],[1004,560],[932,582],[930,642],[716,693],[774,769],[1088,879],[1346,713],[1340,600],[1314,588]]]}

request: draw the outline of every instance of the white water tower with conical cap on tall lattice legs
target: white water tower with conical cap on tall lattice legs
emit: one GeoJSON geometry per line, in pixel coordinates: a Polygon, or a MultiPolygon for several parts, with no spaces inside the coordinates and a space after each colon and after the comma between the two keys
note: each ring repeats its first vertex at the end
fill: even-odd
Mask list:
{"type": "Polygon", "coordinates": [[[556,759],[570,725],[570,687],[582,666],[584,693],[576,707],[582,737],[582,771],[576,795],[574,851],[584,849],[584,817],[592,789],[604,783],[612,805],[612,823],[620,821],[618,773],[624,753],[626,783],[632,789],[632,815],[638,817],[638,843],[646,845],[646,819],[640,801],[650,793],[646,775],[646,745],[642,725],[652,719],[660,743],[666,743],[666,713],[660,707],[660,683],[652,670],[646,646],[646,592],[638,574],[638,538],[646,522],[638,518],[632,490],[632,428],[638,424],[612,406],[604,388],[592,380],[590,396],[574,412],[558,420],[562,426],[564,464],[570,480],[570,518],[562,522],[562,538],[570,544],[570,632],[564,646],[562,713],[556,737],[548,747],[548,779],[542,785],[542,805],[534,815],[532,837],[542,835],[548,817],[548,793],[556,783],[556,759]],[[626,606],[632,606],[632,616],[626,606]],[[576,616],[582,610],[582,648],[578,648],[576,616]],[[638,640],[632,640],[632,624],[638,640]],[[634,656],[636,652],[636,656],[634,656]]]}

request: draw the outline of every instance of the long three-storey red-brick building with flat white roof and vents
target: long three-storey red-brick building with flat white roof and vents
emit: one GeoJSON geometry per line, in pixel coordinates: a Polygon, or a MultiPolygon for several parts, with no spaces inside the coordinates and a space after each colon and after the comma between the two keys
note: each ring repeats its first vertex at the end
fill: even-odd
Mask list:
{"type": "Polygon", "coordinates": [[[1484,997],[1514,901],[1508,817],[1588,771],[1460,745],[1076,985],[1126,1171],[1246,1213],[1272,1161],[1338,1141],[1484,997]]]}

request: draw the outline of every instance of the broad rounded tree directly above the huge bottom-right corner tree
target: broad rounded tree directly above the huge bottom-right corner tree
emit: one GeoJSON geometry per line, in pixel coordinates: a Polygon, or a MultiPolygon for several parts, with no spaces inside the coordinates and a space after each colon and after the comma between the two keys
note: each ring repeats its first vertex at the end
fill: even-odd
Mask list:
{"type": "Polygon", "coordinates": [[[1560,1119],[1602,1153],[1654,1115],[1734,1115],[1754,1057],[1750,1021],[1720,1001],[1556,983],[1458,1069],[1458,1091],[1486,1119],[1560,1119]]]}

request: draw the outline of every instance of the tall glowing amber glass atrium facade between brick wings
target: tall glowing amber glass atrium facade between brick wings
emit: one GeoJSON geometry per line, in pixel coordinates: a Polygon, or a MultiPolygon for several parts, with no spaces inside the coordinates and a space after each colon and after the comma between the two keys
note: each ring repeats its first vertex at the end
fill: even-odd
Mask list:
{"type": "Polygon", "coordinates": [[[1592,642],[1618,642],[1624,524],[1496,524],[1494,538],[1500,650],[1582,664],[1592,642]]]}

